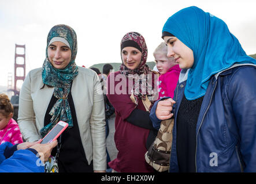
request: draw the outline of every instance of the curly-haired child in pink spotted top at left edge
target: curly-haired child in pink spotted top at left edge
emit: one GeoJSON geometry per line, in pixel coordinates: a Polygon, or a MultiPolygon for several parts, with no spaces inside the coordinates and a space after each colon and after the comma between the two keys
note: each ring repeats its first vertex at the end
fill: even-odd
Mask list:
{"type": "Polygon", "coordinates": [[[23,143],[20,128],[13,120],[13,106],[6,94],[0,94],[0,144],[10,142],[12,144],[23,143]]]}

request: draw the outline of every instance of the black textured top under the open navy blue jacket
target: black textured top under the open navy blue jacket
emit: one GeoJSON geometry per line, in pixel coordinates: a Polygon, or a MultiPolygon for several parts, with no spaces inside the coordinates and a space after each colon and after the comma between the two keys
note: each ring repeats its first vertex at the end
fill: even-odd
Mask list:
{"type": "Polygon", "coordinates": [[[196,122],[203,97],[189,101],[185,95],[177,114],[177,160],[181,173],[195,173],[196,122]]]}

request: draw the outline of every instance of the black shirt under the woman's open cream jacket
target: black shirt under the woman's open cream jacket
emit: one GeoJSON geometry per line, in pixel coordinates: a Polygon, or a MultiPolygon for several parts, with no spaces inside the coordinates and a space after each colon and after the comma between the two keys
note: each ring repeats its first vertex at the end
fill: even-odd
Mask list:
{"type": "MultiPolygon", "coordinates": [[[[51,116],[49,114],[53,105],[57,102],[57,98],[54,95],[51,97],[50,104],[46,110],[44,116],[44,126],[49,124],[51,116]]],[[[68,172],[93,172],[92,161],[88,165],[86,154],[84,152],[83,145],[81,143],[81,137],[79,127],[77,124],[76,110],[73,102],[71,91],[68,94],[68,103],[71,107],[71,114],[73,119],[73,127],[67,128],[58,140],[58,147],[60,147],[60,154],[58,156],[58,168],[60,173],[68,172]]],[[[57,148],[55,147],[51,152],[51,155],[55,156],[57,148]]]]}

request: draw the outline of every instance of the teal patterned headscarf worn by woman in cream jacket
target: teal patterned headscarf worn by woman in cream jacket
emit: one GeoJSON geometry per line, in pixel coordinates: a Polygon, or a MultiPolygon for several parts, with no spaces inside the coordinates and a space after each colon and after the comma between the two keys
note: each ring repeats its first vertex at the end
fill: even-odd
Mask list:
{"type": "MultiPolygon", "coordinates": [[[[51,41],[52,42],[52,41],[51,41]]],[[[77,40],[76,32],[67,25],[55,25],[51,28],[47,36],[46,59],[42,67],[42,79],[45,85],[53,86],[53,95],[58,100],[50,110],[51,122],[40,130],[40,135],[44,137],[58,121],[68,122],[69,128],[73,127],[71,108],[68,103],[68,94],[71,90],[73,79],[78,75],[78,67],[76,66],[77,40]],[[64,69],[54,68],[50,63],[47,53],[50,41],[63,40],[63,43],[69,44],[71,49],[71,61],[64,69]],[[67,43],[66,43],[67,41],[67,43]]]]}

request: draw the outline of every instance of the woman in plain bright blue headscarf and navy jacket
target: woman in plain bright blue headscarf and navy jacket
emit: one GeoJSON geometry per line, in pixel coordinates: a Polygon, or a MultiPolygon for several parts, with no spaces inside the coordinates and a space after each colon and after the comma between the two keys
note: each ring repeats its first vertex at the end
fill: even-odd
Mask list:
{"type": "Polygon", "coordinates": [[[182,69],[175,97],[150,114],[156,128],[175,118],[169,171],[255,172],[256,60],[224,21],[195,6],[169,17],[162,38],[182,69]]]}

